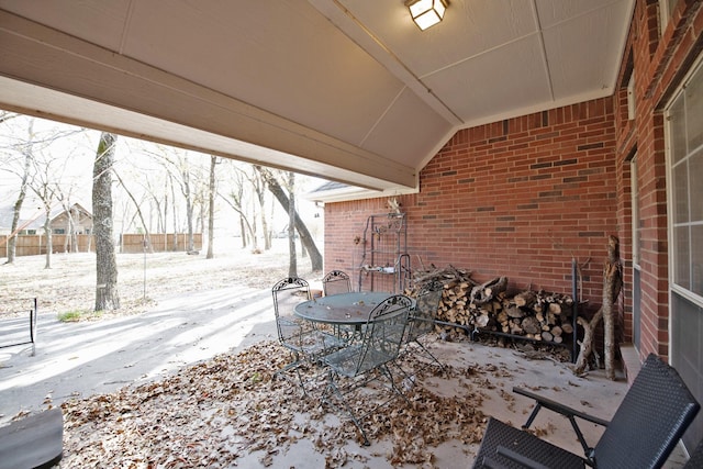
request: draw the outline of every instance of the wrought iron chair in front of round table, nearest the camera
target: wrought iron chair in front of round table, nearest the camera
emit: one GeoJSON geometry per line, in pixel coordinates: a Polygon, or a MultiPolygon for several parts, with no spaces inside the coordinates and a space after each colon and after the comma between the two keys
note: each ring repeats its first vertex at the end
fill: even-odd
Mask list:
{"type": "Polygon", "coordinates": [[[361,433],[366,446],[369,445],[369,439],[361,421],[395,395],[404,398],[394,382],[389,364],[398,357],[400,351],[411,306],[412,299],[409,297],[403,294],[389,297],[369,313],[358,340],[322,359],[328,366],[328,384],[324,401],[334,406],[332,401],[334,395],[341,402],[341,407],[346,411],[361,433]],[[350,380],[342,383],[343,378],[350,380]],[[357,415],[348,398],[375,378],[386,378],[393,395],[378,404],[371,404],[371,400],[368,400],[365,403],[368,410],[362,415],[357,415]]]}

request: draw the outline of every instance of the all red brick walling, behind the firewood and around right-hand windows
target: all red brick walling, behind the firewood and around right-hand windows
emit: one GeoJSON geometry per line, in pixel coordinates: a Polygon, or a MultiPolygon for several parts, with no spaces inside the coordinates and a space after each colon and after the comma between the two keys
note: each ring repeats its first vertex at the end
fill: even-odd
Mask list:
{"type": "MultiPolygon", "coordinates": [[[[458,132],[422,170],[421,191],[399,200],[412,265],[470,268],[478,279],[569,290],[574,256],[583,295],[600,304],[605,237],[621,241],[621,340],[632,340],[632,225],[641,227],[640,356],[669,355],[666,141],[662,112],[703,51],[703,2],[681,0],[659,31],[659,2],[637,0],[612,98],[458,132]],[[635,119],[627,83],[635,77],[635,119]],[[632,215],[636,155],[639,220],[632,215]]],[[[325,269],[353,270],[355,237],[386,199],[325,206],[325,269]]]]}

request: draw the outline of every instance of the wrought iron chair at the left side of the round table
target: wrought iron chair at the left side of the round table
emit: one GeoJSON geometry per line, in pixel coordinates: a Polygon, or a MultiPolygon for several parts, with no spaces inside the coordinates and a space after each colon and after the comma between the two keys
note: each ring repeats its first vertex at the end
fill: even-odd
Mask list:
{"type": "Polygon", "coordinates": [[[295,371],[298,382],[306,395],[304,380],[300,373],[300,366],[315,362],[324,354],[334,350],[342,342],[334,334],[320,331],[310,322],[294,315],[297,304],[311,299],[310,284],[299,277],[288,277],[276,282],[271,288],[274,297],[274,312],[278,340],[288,348],[292,361],[276,372],[275,377],[287,377],[288,371],[295,371]]]}

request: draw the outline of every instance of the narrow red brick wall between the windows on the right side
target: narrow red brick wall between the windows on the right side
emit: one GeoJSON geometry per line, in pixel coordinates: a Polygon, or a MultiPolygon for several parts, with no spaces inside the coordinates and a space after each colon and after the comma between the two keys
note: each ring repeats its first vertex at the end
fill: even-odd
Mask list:
{"type": "MultiPolygon", "coordinates": [[[[665,31],[659,3],[638,0],[615,94],[618,226],[625,264],[625,284],[632,284],[631,165],[637,157],[640,246],[640,357],[654,351],[669,357],[669,246],[667,166],[662,111],[684,75],[703,51],[703,8],[700,1],[679,1],[665,31]],[[635,77],[636,112],[627,120],[625,88],[635,77]]],[[[632,337],[632,302],[625,300],[625,336],[632,337]]]]}

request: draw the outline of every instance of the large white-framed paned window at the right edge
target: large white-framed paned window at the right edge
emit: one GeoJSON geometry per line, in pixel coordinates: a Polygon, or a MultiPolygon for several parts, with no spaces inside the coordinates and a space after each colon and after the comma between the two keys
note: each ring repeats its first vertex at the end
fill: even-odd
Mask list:
{"type": "MultiPolygon", "coordinates": [[[[671,359],[703,400],[703,62],[692,68],[667,109],[671,359]]],[[[692,448],[703,437],[698,418],[684,435],[692,448]]]]}

